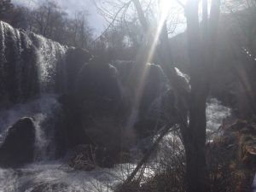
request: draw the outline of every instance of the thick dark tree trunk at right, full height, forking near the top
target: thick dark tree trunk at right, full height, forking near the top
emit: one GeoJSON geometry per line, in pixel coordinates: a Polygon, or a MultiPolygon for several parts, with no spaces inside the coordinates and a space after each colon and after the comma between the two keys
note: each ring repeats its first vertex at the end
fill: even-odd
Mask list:
{"type": "Polygon", "coordinates": [[[189,192],[207,192],[207,163],[205,156],[207,118],[206,102],[217,36],[219,0],[212,1],[208,27],[207,0],[203,2],[202,38],[198,16],[198,0],[186,7],[188,51],[190,59],[189,126],[183,133],[186,152],[189,192]]]}

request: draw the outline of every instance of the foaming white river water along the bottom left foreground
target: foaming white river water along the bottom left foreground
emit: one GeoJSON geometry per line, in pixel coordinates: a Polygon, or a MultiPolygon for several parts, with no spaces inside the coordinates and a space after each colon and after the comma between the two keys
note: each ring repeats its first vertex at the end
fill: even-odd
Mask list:
{"type": "Polygon", "coordinates": [[[44,164],[32,164],[17,170],[0,169],[0,191],[112,191],[113,186],[124,181],[133,168],[134,165],[125,164],[113,169],[99,168],[92,172],[80,172],[63,166],[61,162],[52,161],[44,164]],[[44,186],[44,188],[38,189],[39,186],[44,186]]]}

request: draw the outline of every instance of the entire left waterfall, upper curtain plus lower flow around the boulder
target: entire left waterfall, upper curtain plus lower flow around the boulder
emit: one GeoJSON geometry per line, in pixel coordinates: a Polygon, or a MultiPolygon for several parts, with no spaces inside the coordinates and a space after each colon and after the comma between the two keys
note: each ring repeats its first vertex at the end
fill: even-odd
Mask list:
{"type": "Polygon", "coordinates": [[[36,125],[35,160],[51,158],[54,119],[61,110],[56,94],[67,90],[69,48],[2,21],[0,45],[0,143],[9,126],[24,116],[32,117],[36,125]]]}

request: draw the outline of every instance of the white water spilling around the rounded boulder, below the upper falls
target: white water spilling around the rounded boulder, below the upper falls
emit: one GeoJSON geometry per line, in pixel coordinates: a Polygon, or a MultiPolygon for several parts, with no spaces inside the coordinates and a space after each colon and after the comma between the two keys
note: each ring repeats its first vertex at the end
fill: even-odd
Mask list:
{"type": "MultiPolygon", "coordinates": [[[[26,102],[24,104],[16,104],[14,107],[0,110],[0,144],[9,129],[9,126],[22,117],[32,117],[36,125],[36,155],[35,160],[44,160],[46,157],[46,148],[51,139],[50,133],[46,137],[46,130],[54,130],[54,122],[49,122],[50,117],[56,117],[60,104],[56,101],[55,95],[43,95],[38,99],[26,102]],[[52,126],[52,127],[49,127],[52,126]]],[[[53,148],[52,148],[53,149],[53,148]]]]}

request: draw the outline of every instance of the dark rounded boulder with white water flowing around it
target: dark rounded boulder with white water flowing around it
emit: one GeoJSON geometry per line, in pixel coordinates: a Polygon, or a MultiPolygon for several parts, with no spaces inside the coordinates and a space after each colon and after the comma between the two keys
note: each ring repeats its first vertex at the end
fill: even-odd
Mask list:
{"type": "Polygon", "coordinates": [[[23,118],[9,128],[0,148],[0,166],[17,167],[32,162],[34,156],[35,125],[23,118]]]}

